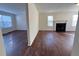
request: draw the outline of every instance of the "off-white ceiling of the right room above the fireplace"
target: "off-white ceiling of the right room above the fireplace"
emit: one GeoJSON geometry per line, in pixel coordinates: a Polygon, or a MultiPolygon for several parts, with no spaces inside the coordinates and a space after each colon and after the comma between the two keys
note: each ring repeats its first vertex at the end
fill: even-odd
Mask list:
{"type": "Polygon", "coordinates": [[[75,3],[35,3],[39,12],[78,11],[75,3]]]}

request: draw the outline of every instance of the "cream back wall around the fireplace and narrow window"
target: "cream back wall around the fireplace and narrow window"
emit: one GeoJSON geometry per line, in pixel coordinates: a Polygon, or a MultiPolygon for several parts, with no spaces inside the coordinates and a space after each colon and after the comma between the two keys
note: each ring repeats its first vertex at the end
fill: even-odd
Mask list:
{"type": "Polygon", "coordinates": [[[72,26],[72,16],[78,14],[77,12],[53,12],[39,14],[39,28],[40,30],[56,30],[56,22],[67,20],[66,31],[75,31],[76,27],[72,26]],[[52,27],[47,25],[47,16],[53,16],[54,22],[52,27]]]}

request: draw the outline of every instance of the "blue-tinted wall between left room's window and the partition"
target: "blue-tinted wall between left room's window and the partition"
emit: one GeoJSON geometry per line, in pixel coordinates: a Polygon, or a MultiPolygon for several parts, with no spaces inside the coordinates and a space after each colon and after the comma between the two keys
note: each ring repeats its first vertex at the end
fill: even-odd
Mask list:
{"type": "Polygon", "coordinates": [[[24,9],[16,15],[17,30],[27,30],[27,4],[24,5],[24,9]]]}

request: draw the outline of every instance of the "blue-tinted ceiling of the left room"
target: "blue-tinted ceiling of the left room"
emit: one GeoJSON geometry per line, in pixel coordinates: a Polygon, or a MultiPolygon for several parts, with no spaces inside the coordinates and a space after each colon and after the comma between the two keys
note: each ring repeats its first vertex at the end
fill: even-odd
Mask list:
{"type": "Polygon", "coordinates": [[[18,14],[24,11],[25,5],[24,3],[0,3],[0,11],[18,14]]]}

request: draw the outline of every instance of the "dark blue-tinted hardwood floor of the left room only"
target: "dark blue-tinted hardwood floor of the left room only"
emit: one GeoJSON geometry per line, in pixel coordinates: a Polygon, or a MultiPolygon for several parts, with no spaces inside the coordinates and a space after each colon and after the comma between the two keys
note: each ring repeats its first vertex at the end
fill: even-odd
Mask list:
{"type": "Polygon", "coordinates": [[[23,56],[28,48],[27,31],[13,31],[3,35],[7,56],[23,56]]]}

